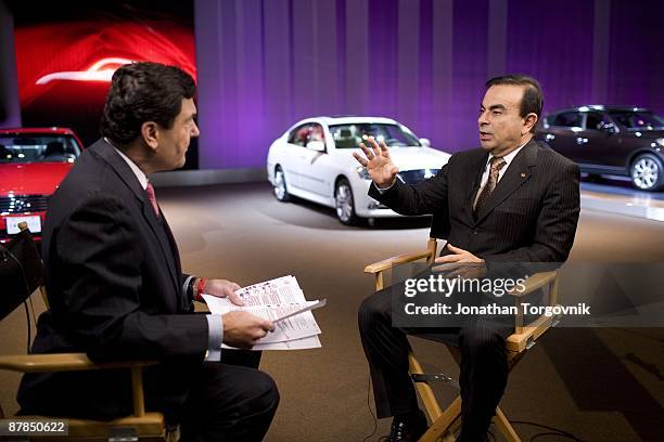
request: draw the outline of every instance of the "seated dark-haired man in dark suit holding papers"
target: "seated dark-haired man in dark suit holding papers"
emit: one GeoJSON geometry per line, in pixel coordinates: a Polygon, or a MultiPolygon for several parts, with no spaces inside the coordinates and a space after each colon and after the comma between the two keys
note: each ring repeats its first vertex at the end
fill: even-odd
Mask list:
{"type": "MultiPolygon", "coordinates": [[[[199,135],[194,93],[193,79],[174,66],[137,63],[114,74],[104,138],[49,203],[50,309],[33,350],[159,361],[144,372],[146,408],[179,422],[182,440],[260,440],[279,402],[276,385],[255,358],[229,364],[242,358],[220,347],[248,349],[273,325],[246,312],[193,313],[201,292],[241,303],[239,285],[182,273],[146,178],[184,165],[199,135]]],[[[130,414],[131,381],[128,370],[26,375],[18,402],[23,414],[111,419],[130,414]]]]}

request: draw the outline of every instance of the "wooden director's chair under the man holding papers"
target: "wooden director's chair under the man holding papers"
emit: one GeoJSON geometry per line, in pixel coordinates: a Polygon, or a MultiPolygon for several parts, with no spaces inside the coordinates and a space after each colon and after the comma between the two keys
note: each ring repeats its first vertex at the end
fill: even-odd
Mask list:
{"type": "MultiPolygon", "coordinates": [[[[37,288],[40,289],[47,308],[49,306],[46,289],[43,288],[42,262],[36,244],[25,222],[20,223],[18,227],[21,232],[7,244],[7,247],[0,248],[0,271],[3,284],[3,295],[0,297],[0,321],[26,301],[37,288]]],[[[27,306],[26,310],[29,311],[27,306]]],[[[35,314],[34,311],[31,314],[35,314]]],[[[29,318],[29,321],[34,322],[34,317],[29,318]]],[[[61,440],[126,442],[136,441],[139,438],[142,440],[175,440],[176,431],[167,429],[162,413],[145,412],[142,372],[143,367],[153,364],[156,364],[156,362],[122,361],[95,363],[90,361],[86,353],[0,355],[0,369],[18,373],[84,372],[117,368],[131,372],[133,400],[133,414],[131,416],[110,421],[64,417],[68,421],[68,437],[61,438],[61,440]]],[[[93,395],[94,391],[90,391],[90,394],[93,395]]],[[[103,398],[99,398],[99,400],[103,401],[103,398]]],[[[0,418],[4,417],[2,407],[0,407],[0,418]]],[[[12,417],[12,420],[16,421],[46,421],[49,419],[53,419],[53,417],[12,417]]],[[[30,440],[35,439],[39,438],[30,437],[30,440]]]]}

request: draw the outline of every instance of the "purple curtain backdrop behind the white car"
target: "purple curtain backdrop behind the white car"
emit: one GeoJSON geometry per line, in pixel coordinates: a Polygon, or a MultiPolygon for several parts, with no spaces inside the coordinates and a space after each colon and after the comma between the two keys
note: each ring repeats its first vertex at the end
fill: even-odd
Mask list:
{"type": "Polygon", "coordinates": [[[478,144],[484,82],[542,84],[545,113],[664,110],[659,0],[194,0],[200,167],[264,167],[317,115],[396,118],[447,152],[478,144]]]}

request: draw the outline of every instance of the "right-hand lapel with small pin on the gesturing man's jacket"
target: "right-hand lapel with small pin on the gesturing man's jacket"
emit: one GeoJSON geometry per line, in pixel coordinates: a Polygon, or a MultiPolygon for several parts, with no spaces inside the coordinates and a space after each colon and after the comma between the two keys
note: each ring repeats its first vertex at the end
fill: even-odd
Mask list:
{"type": "Polygon", "coordinates": [[[500,203],[510,196],[523,183],[529,180],[532,167],[537,161],[537,143],[531,140],[521,150],[508,167],[505,176],[477,213],[476,223],[482,222],[500,203]]]}

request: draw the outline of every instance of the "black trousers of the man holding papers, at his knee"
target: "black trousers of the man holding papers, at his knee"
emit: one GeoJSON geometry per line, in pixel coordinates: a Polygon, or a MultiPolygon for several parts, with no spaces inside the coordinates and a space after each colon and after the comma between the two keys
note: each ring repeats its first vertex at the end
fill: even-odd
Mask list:
{"type": "Polygon", "coordinates": [[[260,352],[222,350],[204,362],[181,414],[180,441],[260,441],[270,427],[279,392],[258,370],[260,352]]]}

